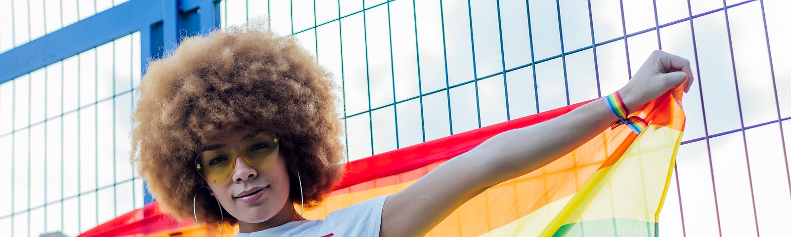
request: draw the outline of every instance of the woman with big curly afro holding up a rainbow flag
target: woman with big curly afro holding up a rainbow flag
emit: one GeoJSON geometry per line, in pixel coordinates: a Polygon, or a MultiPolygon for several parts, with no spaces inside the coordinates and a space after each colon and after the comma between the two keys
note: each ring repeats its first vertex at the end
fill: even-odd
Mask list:
{"type": "MultiPolygon", "coordinates": [[[[261,28],[187,38],[149,64],[134,113],[133,161],[176,219],[239,224],[238,236],[424,235],[488,187],[549,164],[623,119],[596,100],[492,137],[396,194],[303,220],[293,204],[320,205],[343,175],[334,85],[293,37],[261,28]]],[[[672,88],[686,92],[692,81],[686,59],[655,51],[611,98],[636,111],[672,88]]]]}

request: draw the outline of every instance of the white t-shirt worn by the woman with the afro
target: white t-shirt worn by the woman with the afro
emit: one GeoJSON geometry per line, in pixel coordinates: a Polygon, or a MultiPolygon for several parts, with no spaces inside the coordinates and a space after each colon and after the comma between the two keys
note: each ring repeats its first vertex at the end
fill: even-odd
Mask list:
{"type": "Polygon", "coordinates": [[[237,237],[305,236],[379,236],[382,208],[388,195],[371,198],[327,214],[325,220],[297,220],[278,227],[252,233],[239,233],[237,237]]]}

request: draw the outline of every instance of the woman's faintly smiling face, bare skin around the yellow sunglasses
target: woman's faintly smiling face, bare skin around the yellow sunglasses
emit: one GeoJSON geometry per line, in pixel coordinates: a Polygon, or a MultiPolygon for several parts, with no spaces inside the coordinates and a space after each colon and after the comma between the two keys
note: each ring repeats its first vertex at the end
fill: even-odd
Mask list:
{"type": "Polygon", "coordinates": [[[291,203],[290,182],[283,156],[278,153],[274,164],[259,170],[245,163],[242,155],[239,155],[240,152],[244,153],[239,151],[240,145],[245,146],[244,143],[255,136],[256,134],[246,130],[234,130],[219,137],[209,137],[203,144],[204,148],[231,150],[229,154],[232,157],[227,157],[226,162],[236,162],[233,175],[227,182],[206,184],[222,207],[240,223],[262,223],[278,213],[285,213],[287,207],[293,209],[292,205],[286,205],[291,203]]]}

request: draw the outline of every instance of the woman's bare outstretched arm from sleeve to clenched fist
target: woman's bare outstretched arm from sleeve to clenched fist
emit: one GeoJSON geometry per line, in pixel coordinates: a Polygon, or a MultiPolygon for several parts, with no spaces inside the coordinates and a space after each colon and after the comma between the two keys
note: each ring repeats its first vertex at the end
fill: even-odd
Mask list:
{"type": "MultiPolygon", "coordinates": [[[[676,88],[687,75],[684,92],[693,81],[689,61],[654,51],[619,92],[629,111],[636,111],[676,88]]],[[[604,100],[595,100],[556,119],[491,137],[388,197],[380,235],[425,235],[464,202],[557,160],[616,120],[604,100]]]]}

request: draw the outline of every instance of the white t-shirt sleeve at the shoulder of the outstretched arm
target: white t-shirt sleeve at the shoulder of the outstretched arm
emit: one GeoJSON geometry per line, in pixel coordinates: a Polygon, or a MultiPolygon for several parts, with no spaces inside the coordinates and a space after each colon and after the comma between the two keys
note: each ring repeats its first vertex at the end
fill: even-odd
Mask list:
{"type": "Polygon", "coordinates": [[[387,198],[371,198],[327,214],[319,236],[379,236],[387,198]]]}

